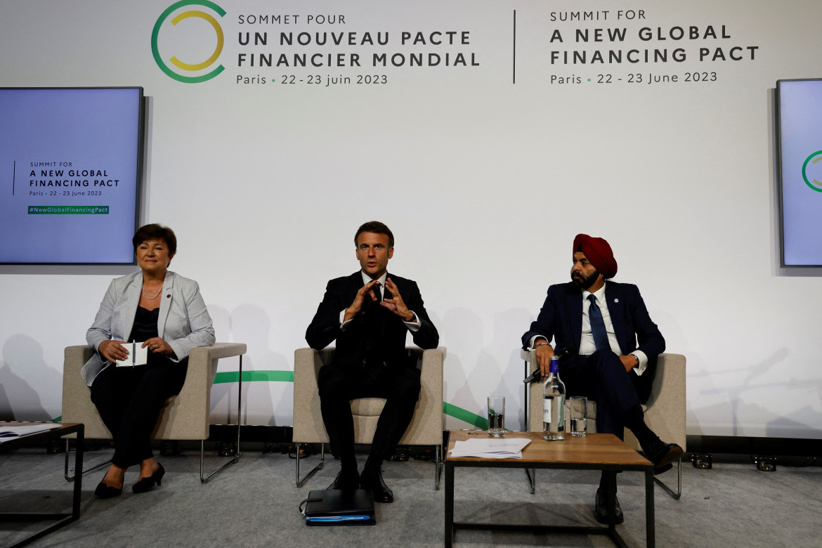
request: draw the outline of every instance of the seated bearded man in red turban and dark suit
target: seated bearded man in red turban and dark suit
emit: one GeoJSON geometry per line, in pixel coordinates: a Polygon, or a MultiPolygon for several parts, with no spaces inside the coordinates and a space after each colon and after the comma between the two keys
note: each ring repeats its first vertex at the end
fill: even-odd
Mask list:
{"type": "MultiPolygon", "coordinates": [[[[617,274],[617,260],[603,238],[574,238],[570,283],[548,288],[523,348],[536,348],[537,363],[547,375],[552,355],[566,351],[560,377],[567,395],[586,396],[597,403],[597,431],[620,439],[628,428],[653,462],[655,473],[669,469],[682,456],[677,444],[666,444],[645,425],[641,404],[651,393],[657,356],[665,339],[651,320],[640,290],[630,283],[607,279],[617,274]],[[551,346],[552,339],[555,345],[551,346]]],[[[597,490],[594,516],[607,523],[605,473],[597,490]]],[[[617,523],[622,510],[617,501],[617,523]]]]}

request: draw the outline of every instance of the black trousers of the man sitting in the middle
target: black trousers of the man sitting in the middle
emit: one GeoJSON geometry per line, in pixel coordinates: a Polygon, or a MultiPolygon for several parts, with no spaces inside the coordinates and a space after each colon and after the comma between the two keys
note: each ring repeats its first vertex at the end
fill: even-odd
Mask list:
{"type": "Polygon", "coordinates": [[[373,379],[365,367],[325,366],[317,379],[322,421],[331,445],[331,454],[344,461],[354,458],[354,424],[351,400],[385,398],[386,406],[376,422],[371,457],[379,462],[393,456],[399,439],[408,429],[419,399],[419,371],[384,367],[373,379]]]}

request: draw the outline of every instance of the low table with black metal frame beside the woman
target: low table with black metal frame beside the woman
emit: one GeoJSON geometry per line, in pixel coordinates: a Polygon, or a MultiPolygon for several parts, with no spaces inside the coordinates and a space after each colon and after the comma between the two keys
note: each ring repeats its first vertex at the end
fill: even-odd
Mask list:
{"type": "MultiPolygon", "coordinates": [[[[2,426],[35,426],[39,423],[37,422],[2,422],[0,423],[0,427],[2,426]]],[[[42,513],[42,512],[0,512],[0,521],[29,521],[29,520],[39,520],[39,519],[58,519],[57,523],[53,523],[50,526],[46,527],[45,529],[35,532],[35,534],[31,536],[27,536],[21,541],[18,541],[16,544],[12,545],[15,546],[24,546],[25,544],[30,543],[31,541],[35,541],[36,539],[40,538],[41,536],[48,535],[48,533],[67,525],[68,523],[72,523],[80,518],[80,495],[81,489],[83,485],[83,434],[85,431],[85,427],[83,423],[76,422],[76,423],[63,423],[57,428],[53,428],[49,431],[38,432],[37,434],[30,434],[30,435],[21,435],[17,438],[12,438],[7,441],[3,441],[0,444],[0,454],[8,453],[13,451],[14,449],[20,449],[21,447],[26,447],[30,444],[37,443],[43,440],[57,440],[63,435],[73,434],[76,432],[77,434],[77,451],[74,459],[74,493],[72,495],[72,513],[42,513]]]]}

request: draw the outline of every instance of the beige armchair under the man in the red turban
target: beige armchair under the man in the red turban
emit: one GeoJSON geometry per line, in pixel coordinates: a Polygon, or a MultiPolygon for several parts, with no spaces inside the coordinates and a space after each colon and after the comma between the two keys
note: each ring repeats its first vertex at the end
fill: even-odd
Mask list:
{"type": "MultiPolygon", "coordinates": [[[[536,351],[523,350],[521,356],[529,363],[529,372],[536,369],[536,351]]],[[[681,354],[660,354],[657,358],[657,372],[653,378],[653,387],[648,403],[642,406],[645,412],[645,423],[666,443],[679,444],[686,449],[686,404],[685,404],[685,356],[681,354]]],[[[543,385],[533,383],[529,389],[528,410],[529,431],[543,431],[543,385]]],[[[569,412],[566,402],[566,431],[569,412]]],[[[597,404],[589,402],[588,431],[596,431],[597,404]]],[[[640,451],[640,443],[629,430],[625,431],[625,442],[640,451]]],[[[682,495],[682,459],[677,463],[677,489],[667,486],[658,477],[653,479],[663,486],[674,499],[682,495]]],[[[533,480],[532,480],[533,488],[533,480]]]]}

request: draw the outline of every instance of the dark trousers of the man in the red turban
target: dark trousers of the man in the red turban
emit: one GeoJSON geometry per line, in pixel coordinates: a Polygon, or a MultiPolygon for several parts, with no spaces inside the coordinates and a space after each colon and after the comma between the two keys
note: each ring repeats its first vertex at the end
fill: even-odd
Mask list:
{"type": "Polygon", "coordinates": [[[636,375],[625,371],[617,354],[598,350],[560,364],[560,379],[568,396],[585,396],[597,403],[597,431],[624,438],[625,415],[640,405],[636,375]]]}

